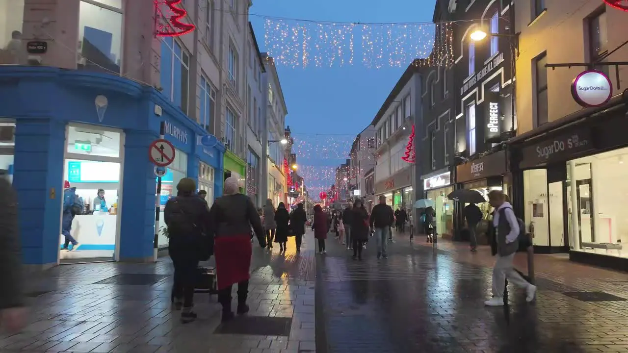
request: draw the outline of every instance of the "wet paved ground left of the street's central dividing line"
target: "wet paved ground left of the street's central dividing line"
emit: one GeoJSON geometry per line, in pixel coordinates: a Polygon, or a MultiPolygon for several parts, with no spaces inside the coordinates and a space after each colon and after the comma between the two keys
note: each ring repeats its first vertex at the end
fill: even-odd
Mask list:
{"type": "Polygon", "coordinates": [[[198,320],[180,323],[170,307],[172,267],[165,257],[155,264],[51,269],[31,288],[30,325],[0,335],[0,352],[315,352],[314,239],[306,236],[299,254],[290,241],[286,254],[277,244],[271,253],[254,245],[251,312],[229,325],[239,334],[215,333],[225,327],[216,297],[206,293],[195,296],[198,320]]]}

